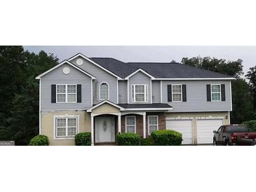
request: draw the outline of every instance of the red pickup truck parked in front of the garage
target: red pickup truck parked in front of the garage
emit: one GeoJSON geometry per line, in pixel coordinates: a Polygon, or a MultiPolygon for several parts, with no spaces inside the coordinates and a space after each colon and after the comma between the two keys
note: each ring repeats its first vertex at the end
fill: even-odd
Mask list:
{"type": "Polygon", "coordinates": [[[256,144],[256,132],[249,132],[245,125],[222,125],[213,133],[213,145],[256,144]]]}

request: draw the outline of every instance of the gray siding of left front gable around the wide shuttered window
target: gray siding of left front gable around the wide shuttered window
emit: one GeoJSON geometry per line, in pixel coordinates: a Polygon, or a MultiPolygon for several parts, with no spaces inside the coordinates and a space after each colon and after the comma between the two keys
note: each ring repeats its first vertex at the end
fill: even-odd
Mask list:
{"type": "Polygon", "coordinates": [[[41,77],[41,110],[88,109],[91,106],[91,78],[69,64],[50,71],[41,77]],[[62,69],[69,67],[70,73],[63,74],[62,69]],[[52,84],[81,84],[81,103],[51,103],[52,84]]]}

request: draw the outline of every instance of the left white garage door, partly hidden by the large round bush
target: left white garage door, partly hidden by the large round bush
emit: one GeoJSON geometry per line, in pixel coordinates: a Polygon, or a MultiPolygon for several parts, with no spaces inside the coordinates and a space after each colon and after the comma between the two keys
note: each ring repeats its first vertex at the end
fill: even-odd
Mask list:
{"type": "Polygon", "coordinates": [[[193,144],[191,120],[166,120],[166,129],[182,133],[182,144],[193,144]]]}

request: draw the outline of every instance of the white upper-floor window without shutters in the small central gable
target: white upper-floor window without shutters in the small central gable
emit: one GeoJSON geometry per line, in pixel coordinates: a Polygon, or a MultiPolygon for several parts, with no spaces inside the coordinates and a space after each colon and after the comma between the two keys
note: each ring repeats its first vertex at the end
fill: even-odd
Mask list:
{"type": "Polygon", "coordinates": [[[147,85],[133,85],[133,102],[147,102],[147,85]]]}

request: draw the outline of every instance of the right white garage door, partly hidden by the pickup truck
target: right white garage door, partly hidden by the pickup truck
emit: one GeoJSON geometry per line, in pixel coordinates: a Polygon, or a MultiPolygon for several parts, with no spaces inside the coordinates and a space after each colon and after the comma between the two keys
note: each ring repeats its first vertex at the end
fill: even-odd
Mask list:
{"type": "Polygon", "coordinates": [[[196,121],[197,144],[212,144],[213,130],[223,125],[223,119],[198,119],[196,121]]]}

